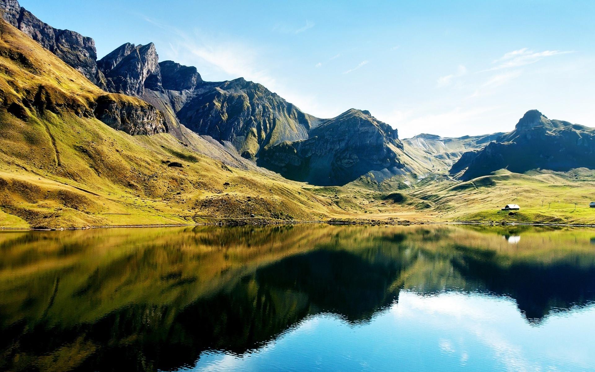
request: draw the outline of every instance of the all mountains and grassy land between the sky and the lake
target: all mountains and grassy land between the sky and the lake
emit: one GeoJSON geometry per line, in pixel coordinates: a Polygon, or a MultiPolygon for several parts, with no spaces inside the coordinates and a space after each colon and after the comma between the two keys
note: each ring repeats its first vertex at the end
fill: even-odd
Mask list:
{"type": "Polygon", "coordinates": [[[400,139],[243,78],[95,42],[0,0],[0,227],[290,221],[595,223],[595,129],[400,139]],[[504,205],[521,210],[501,211],[504,205]]]}

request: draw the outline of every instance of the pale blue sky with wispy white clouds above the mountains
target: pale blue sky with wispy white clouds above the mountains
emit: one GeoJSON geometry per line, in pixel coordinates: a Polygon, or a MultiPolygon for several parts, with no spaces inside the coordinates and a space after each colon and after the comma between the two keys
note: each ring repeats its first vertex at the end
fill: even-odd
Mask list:
{"type": "Polygon", "coordinates": [[[154,42],[203,79],[245,77],[318,117],[369,110],[405,138],[513,129],[525,111],[595,127],[595,1],[47,1],[95,39],[154,42]]]}

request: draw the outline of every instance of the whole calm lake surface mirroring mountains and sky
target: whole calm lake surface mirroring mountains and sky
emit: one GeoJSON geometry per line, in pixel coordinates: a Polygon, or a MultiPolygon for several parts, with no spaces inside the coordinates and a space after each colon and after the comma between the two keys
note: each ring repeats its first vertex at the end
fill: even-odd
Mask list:
{"type": "Polygon", "coordinates": [[[595,371],[595,230],[0,232],[2,371],[595,371]]]}

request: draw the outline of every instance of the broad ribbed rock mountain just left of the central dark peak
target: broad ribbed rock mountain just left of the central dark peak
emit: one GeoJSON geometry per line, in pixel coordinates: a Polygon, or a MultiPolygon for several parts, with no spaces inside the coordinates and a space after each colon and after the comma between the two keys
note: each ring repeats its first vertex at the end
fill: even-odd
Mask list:
{"type": "Polygon", "coordinates": [[[308,138],[319,121],[264,86],[242,78],[203,83],[177,116],[201,135],[233,143],[249,159],[267,146],[308,138]]]}

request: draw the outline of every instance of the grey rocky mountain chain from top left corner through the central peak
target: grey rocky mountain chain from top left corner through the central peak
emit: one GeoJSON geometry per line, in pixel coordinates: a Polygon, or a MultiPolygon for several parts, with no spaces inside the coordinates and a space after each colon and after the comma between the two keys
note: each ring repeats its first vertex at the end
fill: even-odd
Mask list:
{"type": "Polygon", "coordinates": [[[233,155],[315,185],[345,185],[385,168],[397,174],[427,171],[405,154],[397,131],[368,111],[351,109],[336,118],[317,118],[258,83],[241,77],[205,82],[195,67],[159,62],[153,43],[125,43],[96,60],[90,37],[54,29],[16,0],[0,5],[8,23],[101,89],[143,99],[163,112],[168,132],[183,142],[188,142],[184,132],[190,129],[231,145],[226,148],[233,155]],[[79,55],[84,58],[76,58],[79,55]],[[288,157],[287,151],[295,155],[288,157]]]}

